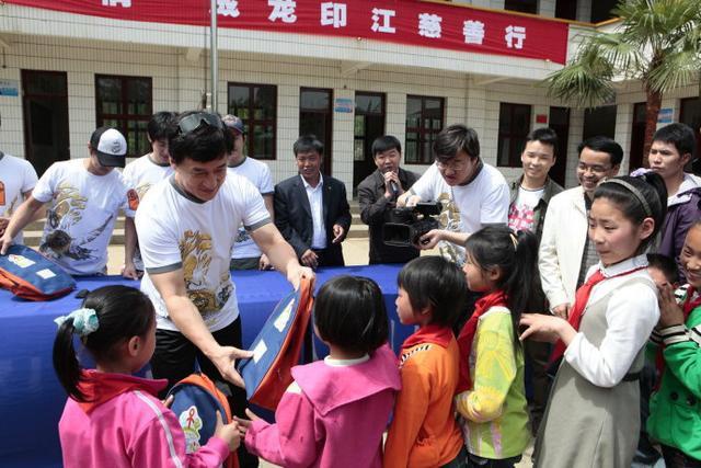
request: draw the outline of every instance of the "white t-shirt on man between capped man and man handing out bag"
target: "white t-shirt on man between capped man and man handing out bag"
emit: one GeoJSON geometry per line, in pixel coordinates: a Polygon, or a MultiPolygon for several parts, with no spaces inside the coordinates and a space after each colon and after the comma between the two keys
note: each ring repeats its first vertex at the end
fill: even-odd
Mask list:
{"type": "MultiPolygon", "coordinates": [[[[173,173],[171,164],[159,164],[151,160],[150,155],[143,155],[139,159],[129,162],[122,176],[129,192],[127,193],[127,209],[124,214],[130,218],[136,215],[136,208],[151,186],[160,181],[168,179],[173,173]]],[[[139,250],[138,239],[136,250],[134,251],[134,265],[137,270],[143,270],[143,261],[139,250]]]]}

